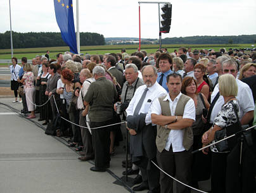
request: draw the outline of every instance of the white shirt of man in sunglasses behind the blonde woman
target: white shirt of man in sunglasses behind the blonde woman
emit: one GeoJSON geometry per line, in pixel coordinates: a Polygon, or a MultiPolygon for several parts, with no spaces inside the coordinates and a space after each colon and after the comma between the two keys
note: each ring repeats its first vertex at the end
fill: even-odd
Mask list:
{"type": "MultiPolygon", "coordinates": [[[[236,99],[238,99],[238,104],[240,108],[240,120],[247,113],[248,111],[253,111],[255,104],[253,102],[253,96],[252,96],[252,90],[250,87],[245,84],[244,82],[241,82],[241,80],[238,80],[236,78],[236,83],[238,84],[238,96],[236,96],[236,99]]],[[[219,92],[219,84],[217,84],[214,88],[214,91],[212,92],[212,96],[210,101],[214,101],[214,97],[219,92]]],[[[219,96],[219,99],[214,104],[214,108],[212,109],[212,114],[210,115],[210,123],[214,123],[214,118],[218,115],[219,111],[221,111],[221,107],[224,104],[224,98],[223,96],[219,96]]]]}

